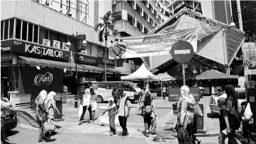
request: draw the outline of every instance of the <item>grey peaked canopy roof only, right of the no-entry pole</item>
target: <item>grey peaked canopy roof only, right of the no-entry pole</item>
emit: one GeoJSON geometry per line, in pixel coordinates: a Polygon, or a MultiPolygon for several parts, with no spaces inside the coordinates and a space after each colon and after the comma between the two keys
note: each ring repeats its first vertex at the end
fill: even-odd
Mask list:
{"type": "Polygon", "coordinates": [[[216,70],[207,70],[199,76],[196,76],[196,80],[213,80],[213,79],[227,79],[227,78],[239,78],[239,76],[228,75],[216,70]]]}

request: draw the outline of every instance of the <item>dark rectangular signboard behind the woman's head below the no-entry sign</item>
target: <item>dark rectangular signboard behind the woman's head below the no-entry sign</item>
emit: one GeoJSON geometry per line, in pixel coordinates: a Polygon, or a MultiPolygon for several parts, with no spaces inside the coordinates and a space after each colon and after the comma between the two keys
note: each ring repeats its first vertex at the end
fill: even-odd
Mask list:
{"type": "MultiPolygon", "coordinates": [[[[180,88],[169,88],[169,102],[178,102],[179,97],[181,97],[180,88]]],[[[189,92],[194,96],[196,101],[200,100],[199,97],[199,88],[198,87],[189,87],[189,92]]]]}

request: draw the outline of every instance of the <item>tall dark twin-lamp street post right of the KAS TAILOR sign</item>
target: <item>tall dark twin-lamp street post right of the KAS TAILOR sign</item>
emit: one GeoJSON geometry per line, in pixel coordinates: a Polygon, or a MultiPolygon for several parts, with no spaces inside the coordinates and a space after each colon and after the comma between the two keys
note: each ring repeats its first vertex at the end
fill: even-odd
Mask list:
{"type": "Polygon", "coordinates": [[[78,102],[77,102],[77,83],[78,83],[78,80],[77,80],[77,57],[78,57],[78,51],[83,50],[83,49],[80,48],[81,45],[84,46],[84,47],[87,46],[86,35],[83,35],[83,34],[69,35],[69,42],[67,42],[67,44],[66,44],[67,47],[72,46],[70,41],[74,42],[74,49],[73,49],[73,51],[74,51],[74,60],[75,60],[74,63],[76,64],[76,75],[75,75],[76,91],[75,91],[75,97],[74,97],[74,108],[77,108],[78,107],[78,102]]]}

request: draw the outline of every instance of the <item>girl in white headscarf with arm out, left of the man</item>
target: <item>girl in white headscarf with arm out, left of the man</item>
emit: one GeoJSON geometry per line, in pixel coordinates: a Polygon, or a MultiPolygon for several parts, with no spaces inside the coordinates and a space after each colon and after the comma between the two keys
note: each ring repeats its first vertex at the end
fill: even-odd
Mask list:
{"type": "MultiPolygon", "coordinates": [[[[106,107],[106,110],[103,112],[103,114],[105,114],[106,111],[108,111],[109,115],[110,136],[116,135],[115,116],[117,108],[116,104],[114,103],[113,97],[110,97],[110,99],[108,100],[108,106],[106,107]]],[[[103,114],[101,114],[101,116],[103,114]]]]}

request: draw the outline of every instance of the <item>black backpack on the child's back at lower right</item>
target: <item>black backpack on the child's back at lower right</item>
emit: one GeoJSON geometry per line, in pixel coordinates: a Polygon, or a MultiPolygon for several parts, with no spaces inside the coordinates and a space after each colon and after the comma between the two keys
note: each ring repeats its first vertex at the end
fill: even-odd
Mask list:
{"type": "Polygon", "coordinates": [[[232,130],[237,130],[241,126],[242,122],[242,116],[235,110],[235,107],[233,109],[227,109],[228,110],[228,121],[230,128],[232,130]]]}

